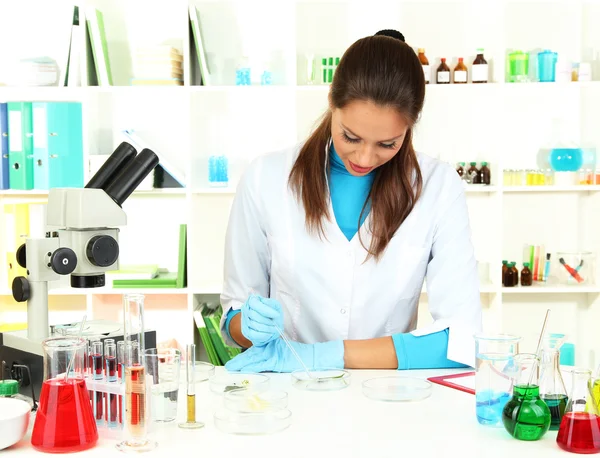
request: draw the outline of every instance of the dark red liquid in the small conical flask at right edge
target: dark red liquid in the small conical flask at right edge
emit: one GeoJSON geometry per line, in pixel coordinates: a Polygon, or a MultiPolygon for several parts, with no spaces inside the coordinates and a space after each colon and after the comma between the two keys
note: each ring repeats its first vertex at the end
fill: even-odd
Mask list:
{"type": "Polygon", "coordinates": [[[556,442],[567,452],[600,452],[600,418],[586,412],[566,413],[561,421],[556,442]]]}

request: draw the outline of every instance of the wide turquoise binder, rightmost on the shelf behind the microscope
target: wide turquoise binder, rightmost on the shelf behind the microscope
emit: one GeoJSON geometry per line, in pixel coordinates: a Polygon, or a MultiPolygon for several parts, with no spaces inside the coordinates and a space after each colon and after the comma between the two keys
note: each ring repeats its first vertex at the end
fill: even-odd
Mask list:
{"type": "Polygon", "coordinates": [[[35,189],[83,187],[81,104],[34,102],[35,189]]]}

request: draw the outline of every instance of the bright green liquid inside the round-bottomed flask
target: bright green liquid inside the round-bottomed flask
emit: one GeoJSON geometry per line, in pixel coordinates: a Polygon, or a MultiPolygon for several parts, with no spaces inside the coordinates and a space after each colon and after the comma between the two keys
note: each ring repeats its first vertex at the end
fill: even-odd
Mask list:
{"type": "Polygon", "coordinates": [[[515,439],[536,441],[546,434],[551,415],[538,385],[515,385],[502,411],[502,423],[515,439]]]}

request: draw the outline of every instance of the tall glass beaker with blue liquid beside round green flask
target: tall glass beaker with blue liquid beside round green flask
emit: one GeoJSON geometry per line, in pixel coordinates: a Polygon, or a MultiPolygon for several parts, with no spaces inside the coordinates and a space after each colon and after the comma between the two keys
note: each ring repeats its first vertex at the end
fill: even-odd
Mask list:
{"type": "Polygon", "coordinates": [[[520,340],[508,334],[475,336],[475,403],[477,421],[482,425],[502,426],[520,340]]]}

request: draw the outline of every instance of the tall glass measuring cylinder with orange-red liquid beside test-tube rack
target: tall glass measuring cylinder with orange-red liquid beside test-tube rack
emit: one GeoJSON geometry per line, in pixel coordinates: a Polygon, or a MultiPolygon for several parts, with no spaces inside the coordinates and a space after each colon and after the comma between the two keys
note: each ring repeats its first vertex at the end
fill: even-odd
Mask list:
{"type": "Polygon", "coordinates": [[[123,295],[125,341],[125,422],[117,449],[146,452],[157,443],[148,438],[148,387],[144,367],[144,295],[123,295]]]}

